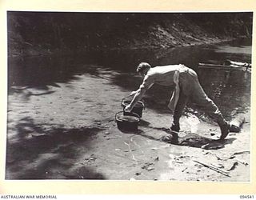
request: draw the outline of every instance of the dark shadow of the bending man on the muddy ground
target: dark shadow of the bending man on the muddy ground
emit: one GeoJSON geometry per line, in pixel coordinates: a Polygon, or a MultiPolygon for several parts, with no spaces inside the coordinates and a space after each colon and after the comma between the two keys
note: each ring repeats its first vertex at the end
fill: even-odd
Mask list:
{"type": "MultiPolygon", "coordinates": [[[[144,126],[144,127],[147,127],[147,128],[153,129],[153,130],[164,131],[169,136],[174,135],[174,132],[172,132],[170,129],[150,126],[150,122],[146,122],[145,120],[142,120],[142,119],[139,122],[139,126],[144,126]]],[[[127,132],[127,133],[129,133],[129,132],[127,132]]],[[[155,138],[149,134],[146,134],[146,132],[141,129],[138,129],[138,131],[136,131],[136,134],[140,134],[143,137],[146,137],[146,138],[149,138],[149,139],[152,139],[155,141],[166,142],[166,143],[170,143],[170,144],[174,144],[174,145],[178,145],[178,146],[190,146],[190,147],[202,148],[202,149],[206,149],[206,150],[222,149],[227,144],[232,144],[232,142],[234,142],[234,140],[235,140],[235,138],[227,138],[224,140],[206,138],[199,134],[186,132],[185,135],[184,135],[184,133],[182,133],[184,136],[178,137],[178,142],[174,142],[172,140],[165,141],[162,138],[155,138]]]]}

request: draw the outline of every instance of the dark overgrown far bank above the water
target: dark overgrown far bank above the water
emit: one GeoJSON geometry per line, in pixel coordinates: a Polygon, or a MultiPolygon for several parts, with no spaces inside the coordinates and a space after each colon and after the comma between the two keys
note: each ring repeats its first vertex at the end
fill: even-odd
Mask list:
{"type": "Polygon", "coordinates": [[[250,38],[252,13],[8,12],[9,56],[169,48],[250,38]]]}

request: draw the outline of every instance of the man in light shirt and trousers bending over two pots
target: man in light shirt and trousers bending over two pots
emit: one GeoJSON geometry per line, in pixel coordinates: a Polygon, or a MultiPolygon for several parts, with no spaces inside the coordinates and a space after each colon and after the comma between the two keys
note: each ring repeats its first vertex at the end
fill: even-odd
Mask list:
{"type": "Polygon", "coordinates": [[[134,95],[134,98],[126,106],[126,112],[133,109],[134,105],[146,93],[146,90],[149,90],[154,83],[162,86],[174,86],[175,89],[168,104],[169,109],[174,111],[174,120],[170,130],[177,135],[176,138],[172,138],[172,140],[174,139],[172,142],[178,142],[179,118],[181,118],[182,111],[189,99],[202,107],[202,110],[218,123],[221,130],[221,140],[229,134],[229,123],[223,118],[218,106],[207,97],[194,70],[181,64],[151,67],[149,63],[142,62],[138,65],[137,72],[144,79],[138,90],[130,94],[134,95]]]}

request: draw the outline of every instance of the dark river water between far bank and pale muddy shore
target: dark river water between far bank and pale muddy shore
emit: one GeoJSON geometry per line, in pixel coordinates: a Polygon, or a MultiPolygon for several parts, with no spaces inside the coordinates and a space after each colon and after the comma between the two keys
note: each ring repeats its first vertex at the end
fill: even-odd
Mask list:
{"type": "MultiPolygon", "coordinates": [[[[250,109],[250,73],[198,69],[198,62],[222,63],[226,59],[250,62],[251,41],[186,46],[170,50],[102,50],[62,57],[9,58],[9,94],[14,86],[48,90],[48,86],[58,86],[58,82],[74,80],[77,74],[100,78],[112,74],[111,82],[114,85],[126,90],[136,90],[142,81],[135,74],[139,62],[150,62],[152,66],[183,63],[197,71],[206,94],[229,118],[235,109],[250,109]]],[[[168,112],[166,102],[170,98],[170,92],[170,88],[153,86],[145,98],[147,106],[159,112],[168,112]]]]}

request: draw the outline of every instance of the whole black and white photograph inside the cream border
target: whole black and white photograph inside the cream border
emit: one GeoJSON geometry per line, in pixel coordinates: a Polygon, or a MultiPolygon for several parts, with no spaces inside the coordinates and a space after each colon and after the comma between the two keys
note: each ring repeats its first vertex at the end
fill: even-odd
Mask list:
{"type": "Polygon", "coordinates": [[[6,15],[5,180],[251,182],[253,12],[6,15]]]}

